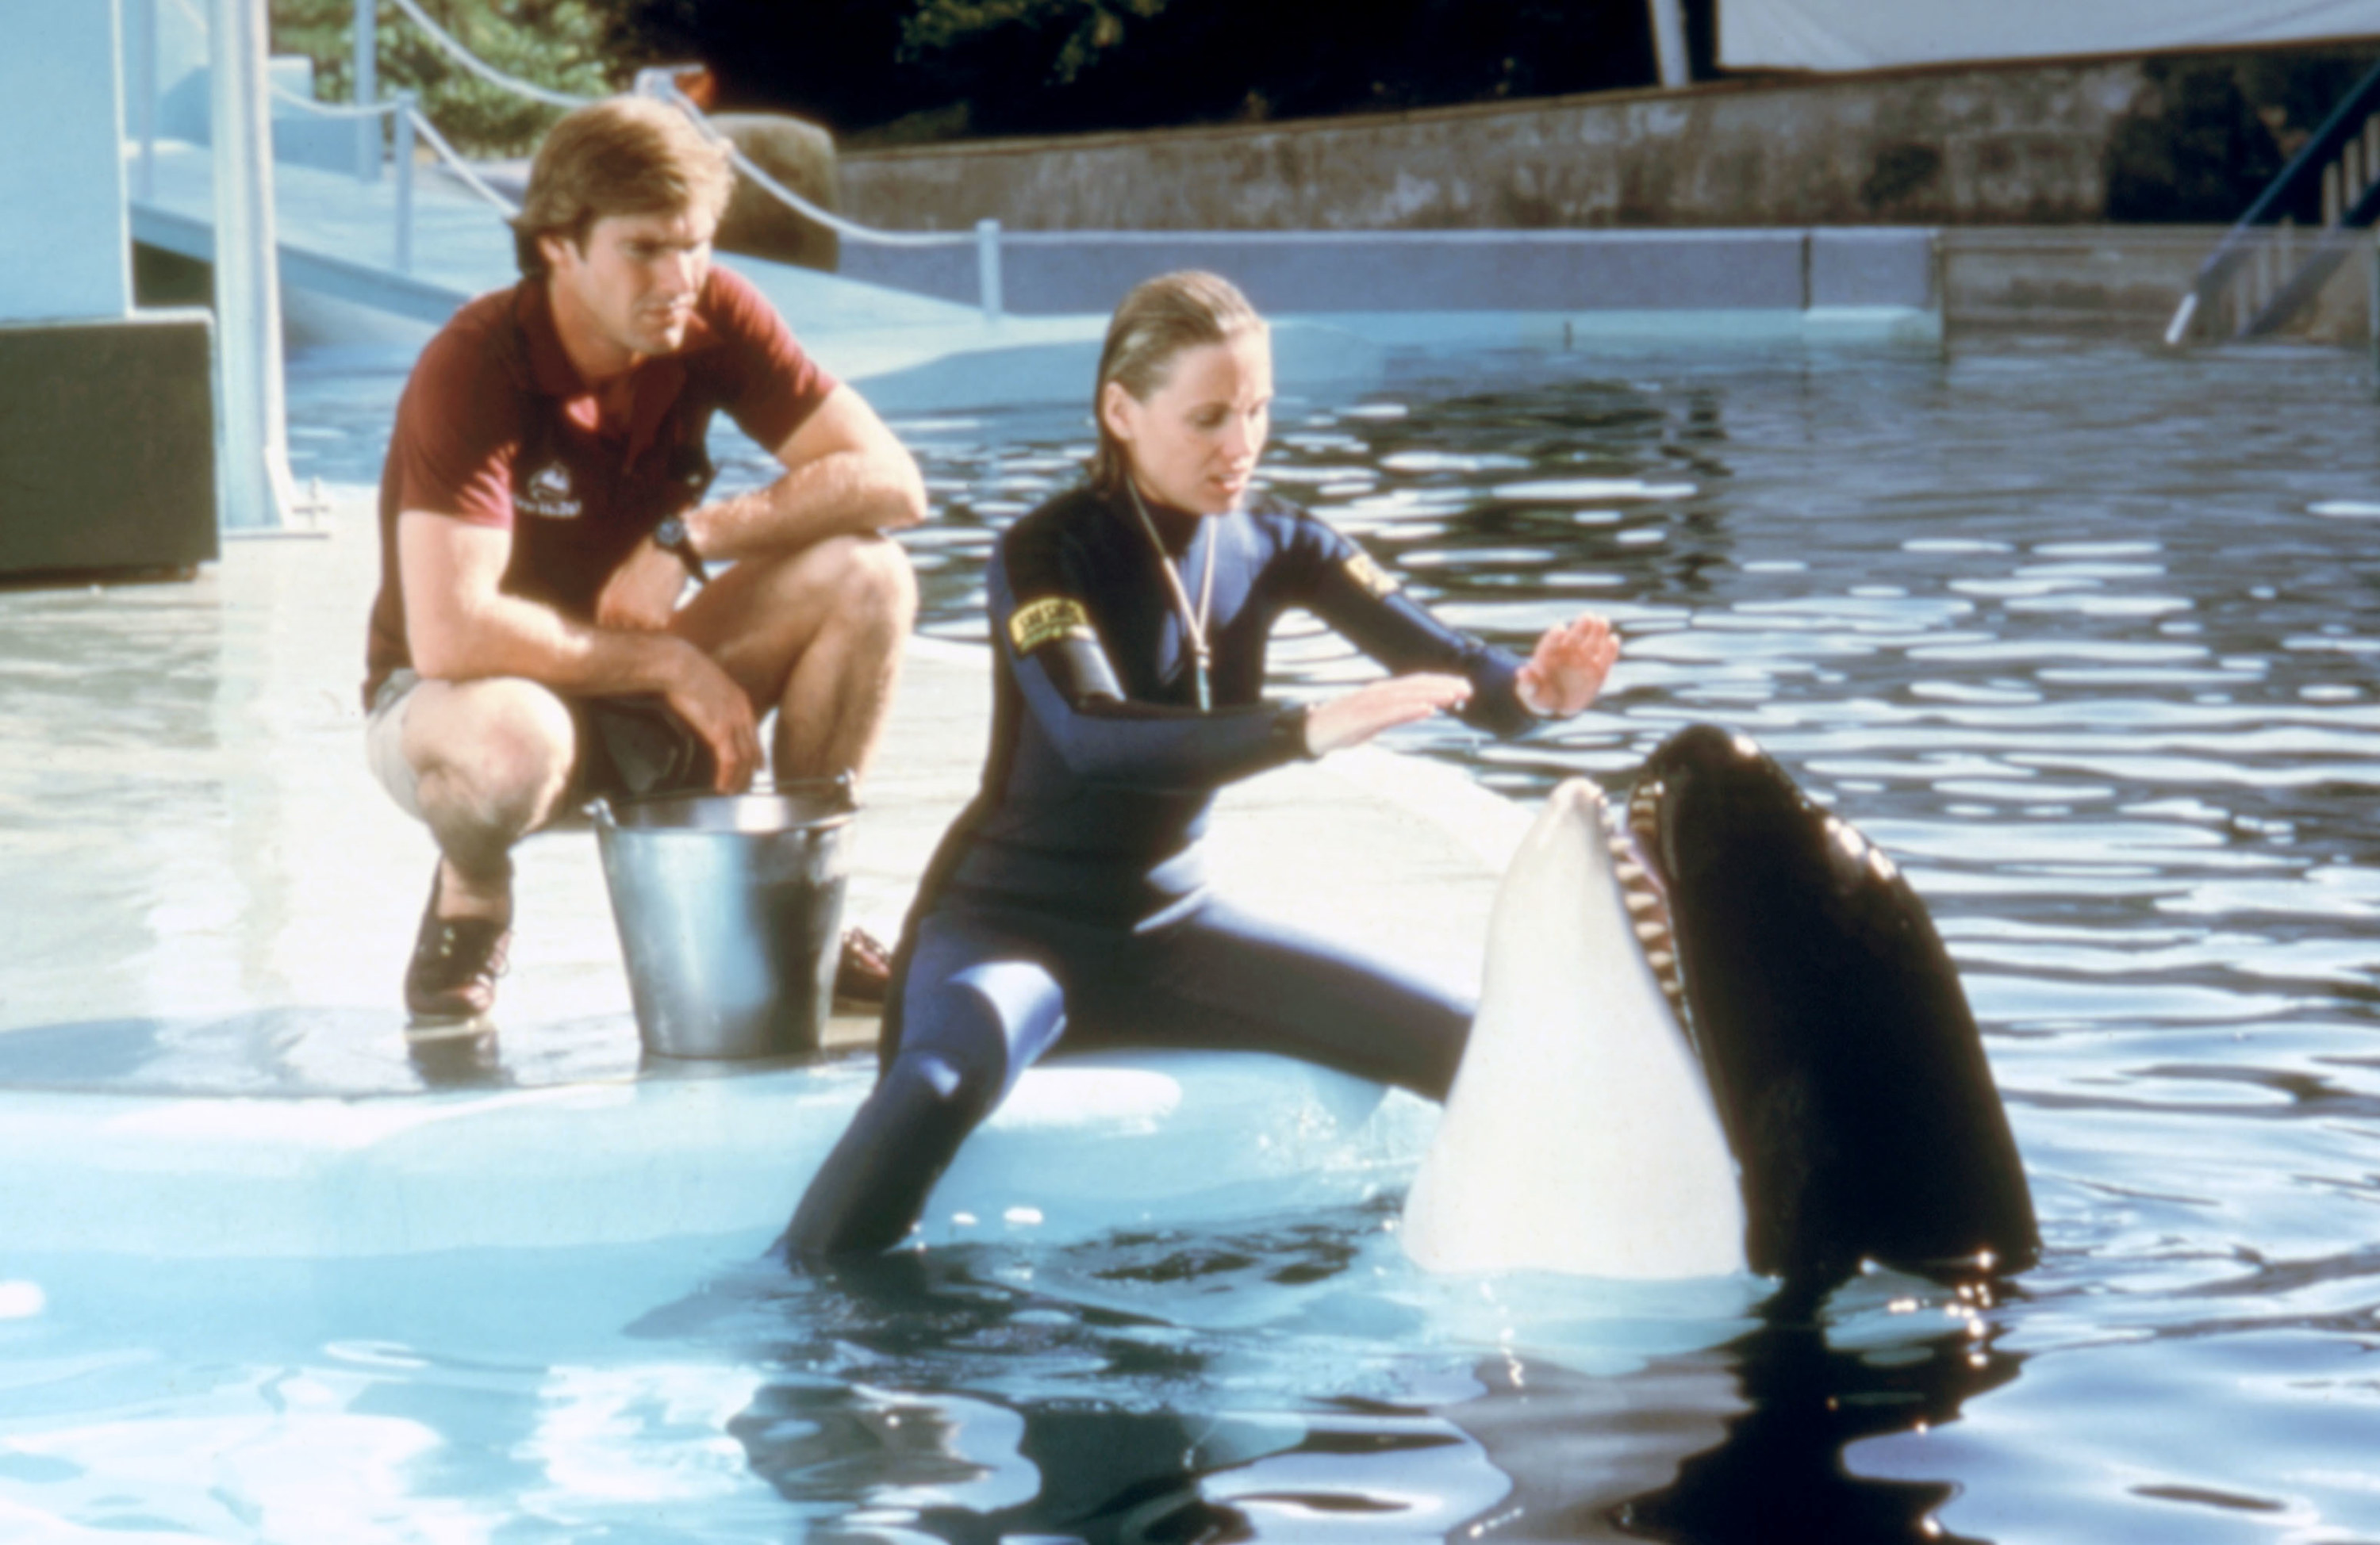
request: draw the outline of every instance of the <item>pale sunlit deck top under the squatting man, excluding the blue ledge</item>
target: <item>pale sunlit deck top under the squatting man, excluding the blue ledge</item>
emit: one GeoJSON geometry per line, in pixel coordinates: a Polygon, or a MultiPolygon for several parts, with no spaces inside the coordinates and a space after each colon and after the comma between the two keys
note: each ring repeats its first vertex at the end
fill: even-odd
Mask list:
{"type": "MultiPolygon", "coordinates": [[[[193,583],[0,593],[0,1088],[395,1095],[443,1083],[407,1055],[397,978],[431,843],[362,762],[371,512],[333,490],[324,538],[238,540],[193,583]],[[136,1028],[138,1026],[138,1028],[136,1028]],[[155,1052],[138,1057],[148,1036],[155,1052]]],[[[983,650],[919,638],[854,831],[850,917],[892,936],[971,793],[983,650]]],[[[1226,888],[1476,976],[1509,805],[1388,752],[1283,769],[1226,795],[1226,888]],[[1461,814],[1452,814],[1461,812],[1461,814]]],[[[493,1062],[545,1086],[640,1062],[585,821],[519,850],[519,926],[493,1062]]],[[[831,1043],[873,1021],[838,1019],[831,1043]]]]}

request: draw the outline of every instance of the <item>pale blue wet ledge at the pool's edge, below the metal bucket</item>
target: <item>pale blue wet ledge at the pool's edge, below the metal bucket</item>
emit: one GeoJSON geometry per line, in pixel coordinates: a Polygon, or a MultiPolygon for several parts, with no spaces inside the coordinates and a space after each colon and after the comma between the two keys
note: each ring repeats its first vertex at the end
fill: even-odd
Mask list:
{"type": "MultiPolygon", "coordinates": [[[[0,1090],[0,1236],[17,1255],[143,1262],[721,1236],[757,1250],[871,1078],[845,1057],[407,1100],[0,1090]]],[[[1359,1202],[1404,1181],[1433,1124],[1421,1100],[1276,1057],[1066,1059],[969,1143],[923,1236],[1359,1202]]]]}

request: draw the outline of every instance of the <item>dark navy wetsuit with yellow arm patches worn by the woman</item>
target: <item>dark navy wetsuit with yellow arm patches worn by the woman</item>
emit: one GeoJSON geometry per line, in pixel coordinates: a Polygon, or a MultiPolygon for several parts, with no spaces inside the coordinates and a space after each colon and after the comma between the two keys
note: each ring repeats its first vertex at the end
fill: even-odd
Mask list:
{"type": "Polygon", "coordinates": [[[1535,721],[1514,695],[1518,662],[1442,626],[1283,500],[1150,514],[1188,595],[1216,543],[1214,707],[1195,707],[1188,628],[1128,500],[1076,488],[1000,540],[983,790],[902,928],[883,1076],[795,1212],[795,1257],[897,1243],[1061,1033],[1069,1047],[1283,1052],[1430,1097],[1454,1078],[1471,1005],[1214,897],[1200,836],[1219,786],[1304,755],[1304,709],[1261,700],[1285,609],[1390,671],[1468,676],[1464,719],[1504,736],[1535,721]]]}

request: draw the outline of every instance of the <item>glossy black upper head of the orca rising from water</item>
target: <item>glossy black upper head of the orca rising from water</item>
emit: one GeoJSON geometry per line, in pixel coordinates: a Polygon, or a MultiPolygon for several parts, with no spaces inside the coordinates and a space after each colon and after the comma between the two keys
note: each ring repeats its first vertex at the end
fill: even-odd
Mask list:
{"type": "Polygon", "coordinates": [[[1975,1017],[1892,859],[1711,726],[1647,759],[1628,824],[1666,893],[1747,1264],[2030,1266],[2033,1195],[1975,1017]]]}

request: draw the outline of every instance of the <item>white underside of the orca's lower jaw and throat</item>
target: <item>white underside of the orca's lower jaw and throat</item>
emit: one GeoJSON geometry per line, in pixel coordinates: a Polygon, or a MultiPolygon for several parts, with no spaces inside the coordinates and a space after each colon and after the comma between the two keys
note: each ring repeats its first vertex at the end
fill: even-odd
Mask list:
{"type": "Polygon", "coordinates": [[[1471,1045],[1404,1202],[1399,1238],[1416,1264],[1614,1278],[1745,1269],[1735,1157],[1645,950],[1604,795],[1573,778],[1497,890],[1471,1045]]]}

